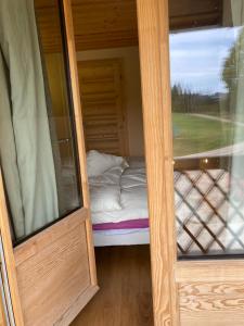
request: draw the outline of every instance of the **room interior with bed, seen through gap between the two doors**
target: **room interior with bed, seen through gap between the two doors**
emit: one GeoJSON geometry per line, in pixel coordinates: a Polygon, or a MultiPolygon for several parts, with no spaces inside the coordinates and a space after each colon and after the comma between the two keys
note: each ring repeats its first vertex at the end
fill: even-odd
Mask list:
{"type": "Polygon", "coordinates": [[[136,5],[136,1],[73,2],[100,278],[100,293],[74,325],[153,324],[136,5]],[[116,155],[123,167],[113,166],[107,154],[116,155]],[[113,180],[118,170],[123,173],[117,185],[113,180]]]}

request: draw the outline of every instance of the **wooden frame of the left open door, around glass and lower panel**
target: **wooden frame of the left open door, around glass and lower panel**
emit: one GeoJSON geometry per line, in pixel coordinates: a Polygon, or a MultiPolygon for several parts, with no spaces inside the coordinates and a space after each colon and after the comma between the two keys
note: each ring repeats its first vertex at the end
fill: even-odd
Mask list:
{"type": "MultiPolygon", "coordinates": [[[[82,127],[82,116],[81,116],[81,104],[80,104],[80,96],[79,96],[79,83],[78,83],[78,73],[77,73],[77,60],[76,60],[76,51],[75,51],[75,39],[74,39],[74,27],[73,27],[73,17],[72,17],[72,0],[62,0],[63,9],[64,9],[64,21],[65,21],[65,32],[66,32],[66,41],[67,41],[67,52],[68,52],[68,65],[70,72],[70,84],[73,90],[73,103],[74,103],[74,116],[75,116],[75,125],[76,125],[76,136],[77,136],[77,145],[78,145],[78,156],[79,156],[79,165],[80,165],[80,180],[82,187],[82,202],[84,206],[70,214],[72,221],[77,223],[77,218],[80,221],[85,221],[86,225],[86,238],[87,238],[87,248],[88,248],[88,256],[89,256],[89,271],[90,271],[90,287],[87,288],[82,298],[78,298],[74,303],[72,311],[66,312],[62,316],[61,324],[66,325],[69,324],[73,318],[77,315],[82,308],[98,291],[98,279],[97,279],[97,268],[95,268],[95,259],[94,259],[94,247],[93,247],[93,237],[92,237],[92,226],[91,220],[87,218],[90,216],[90,198],[89,198],[89,188],[88,188],[88,178],[87,178],[87,160],[86,160],[86,150],[84,143],[84,127],[82,127]],[[86,215],[86,216],[85,216],[86,215]],[[66,324],[65,324],[66,323],[66,324]]],[[[49,228],[46,228],[41,233],[37,234],[34,238],[30,238],[26,242],[28,242],[28,249],[26,251],[22,251],[22,246],[17,246],[13,248],[12,237],[11,237],[11,227],[9,222],[9,212],[7,208],[7,198],[3,186],[3,177],[2,171],[0,166],[0,234],[2,237],[2,244],[5,258],[5,266],[8,273],[8,281],[9,288],[11,292],[12,308],[14,313],[14,319],[16,326],[24,326],[24,317],[23,310],[21,304],[21,297],[18,291],[18,283],[17,283],[17,264],[20,261],[24,260],[28,254],[30,254],[31,250],[35,246],[41,244],[38,242],[39,237],[42,235],[44,237],[49,237],[49,229],[64,229],[67,227],[65,223],[65,218],[62,221],[57,221],[54,225],[49,228]],[[33,248],[31,248],[33,246],[33,248]]]]}

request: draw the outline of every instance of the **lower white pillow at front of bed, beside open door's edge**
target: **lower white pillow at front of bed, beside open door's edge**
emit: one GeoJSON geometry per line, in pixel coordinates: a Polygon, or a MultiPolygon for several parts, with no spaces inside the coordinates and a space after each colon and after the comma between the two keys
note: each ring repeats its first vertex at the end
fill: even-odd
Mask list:
{"type": "Polygon", "coordinates": [[[91,212],[120,211],[120,187],[117,185],[95,185],[90,187],[91,212]]]}

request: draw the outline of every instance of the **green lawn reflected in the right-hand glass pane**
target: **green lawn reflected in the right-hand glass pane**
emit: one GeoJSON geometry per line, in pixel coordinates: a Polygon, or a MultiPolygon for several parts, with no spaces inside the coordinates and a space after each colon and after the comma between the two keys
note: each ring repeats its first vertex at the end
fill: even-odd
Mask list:
{"type": "Polygon", "coordinates": [[[175,156],[200,153],[244,141],[244,127],[232,123],[183,113],[174,113],[172,121],[175,156]]]}

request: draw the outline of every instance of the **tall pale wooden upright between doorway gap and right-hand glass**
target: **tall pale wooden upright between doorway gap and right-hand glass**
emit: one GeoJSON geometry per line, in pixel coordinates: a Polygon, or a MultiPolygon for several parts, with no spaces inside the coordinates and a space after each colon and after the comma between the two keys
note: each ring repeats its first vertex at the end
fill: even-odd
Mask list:
{"type": "Polygon", "coordinates": [[[155,326],[178,325],[168,1],[138,0],[155,326]]]}

